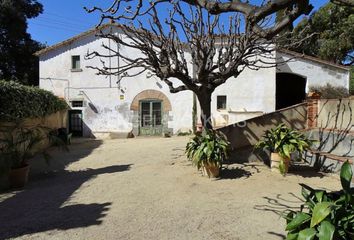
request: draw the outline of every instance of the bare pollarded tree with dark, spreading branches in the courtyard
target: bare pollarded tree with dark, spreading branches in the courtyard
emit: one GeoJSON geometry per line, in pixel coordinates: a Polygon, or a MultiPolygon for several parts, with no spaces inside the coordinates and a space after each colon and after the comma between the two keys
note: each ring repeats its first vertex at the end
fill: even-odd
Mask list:
{"type": "Polygon", "coordinates": [[[213,91],[228,79],[237,78],[245,68],[274,67],[277,34],[311,9],[308,1],[301,0],[273,0],[261,6],[240,0],[225,3],[115,0],[108,9],[94,7],[88,11],[102,13],[100,24],[105,19],[124,22],[116,26],[125,37],[103,31],[99,35],[137,49],[141,56],[133,58],[104,45],[112,54],[94,51],[87,57],[119,56],[123,60],[124,64],[119,68],[108,67],[104,61],[101,67],[92,66],[98,74],[132,77],[150,72],[165,82],[171,93],[193,91],[202,110],[202,124],[211,129],[213,91]],[[163,19],[159,11],[166,9],[169,16],[163,19]],[[286,14],[275,22],[274,13],[284,9],[286,14]],[[227,18],[222,13],[227,14],[229,20],[225,22],[227,18]],[[191,65],[194,71],[190,70],[191,65]]]}

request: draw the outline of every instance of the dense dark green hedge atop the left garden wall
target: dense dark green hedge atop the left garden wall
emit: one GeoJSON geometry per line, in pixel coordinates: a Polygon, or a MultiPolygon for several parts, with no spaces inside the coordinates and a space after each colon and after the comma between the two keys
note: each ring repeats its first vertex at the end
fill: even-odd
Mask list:
{"type": "Polygon", "coordinates": [[[49,91],[0,80],[0,120],[44,117],[67,108],[64,100],[49,91]]]}

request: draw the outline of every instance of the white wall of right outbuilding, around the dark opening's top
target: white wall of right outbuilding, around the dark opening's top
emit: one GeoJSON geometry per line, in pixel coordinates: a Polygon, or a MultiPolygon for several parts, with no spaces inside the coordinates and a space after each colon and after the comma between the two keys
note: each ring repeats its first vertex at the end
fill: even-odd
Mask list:
{"type": "Polygon", "coordinates": [[[311,86],[341,86],[349,89],[349,71],[343,67],[331,66],[305,58],[295,58],[287,53],[277,52],[279,62],[285,62],[277,67],[277,72],[295,73],[306,78],[306,92],[311,86]],[[291,59],[289,61],[289,59],[291,59]]]}

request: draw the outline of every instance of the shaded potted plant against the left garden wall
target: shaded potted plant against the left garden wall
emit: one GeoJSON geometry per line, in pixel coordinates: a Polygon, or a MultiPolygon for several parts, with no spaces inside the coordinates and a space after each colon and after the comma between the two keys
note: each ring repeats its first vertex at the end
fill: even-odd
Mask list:
{"type": "MultiPolygon", "coordinates": [[[[56,137],[48,128],[14,127],[2,133],[0,139],[0,173],[9,176],[10,186],[23,187],[28,181],[28,159],[40,150],[40,144],[48,139],[50,144],[64,146],[64,142],[56,137]]],[[[44,159],[49,161],[49,154],[41,151],[44,159]]]]}

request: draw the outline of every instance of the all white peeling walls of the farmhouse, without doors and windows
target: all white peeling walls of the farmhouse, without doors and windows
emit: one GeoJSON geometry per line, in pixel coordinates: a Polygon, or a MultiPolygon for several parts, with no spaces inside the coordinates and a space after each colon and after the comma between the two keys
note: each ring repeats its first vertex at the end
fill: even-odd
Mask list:
{"type": "MultiPolygon", "coordinates": [[[[107,28],[104,31],[109,30],[107,28]]],[[[124,36],[121,34],[121,37],[124,36]]],[[[166,114],[167,127],[170,131],[177,133],[192,128],[192,92],[171,94],[166,84],[155,77],[148,78],[145,73],[119,81],[120,78],[117,76],[98,76],[96,70],[87,68],[102,66],[99,58],[84,58],[88,51],[93,50],[109,54],[108,50],[102,47],[103,43],[111,47],[115,45],[113,41],[100,39],[94,33],[83,34],[40,55],[40,87],[52,91],[68,102],[84,101],[84,106],[78,108],[83,111],[84,136],[125,137],[138,122],[137,113],[130,110],[130,105],[139,93],[147,89],[164,93],[171,102],[172,110],[166,114]],[[81,57],[81,71],[71,70],[71,57],[74,55],[81,57]]],[[[138,57],[141,54],[135,49],[125,47],[121,47],[119,51],[131,57],[138,57]]],[[[275,56],[275,53],[271,54],[275,56]]],[[[284,54],[278,57],[284,60],[289,58],[284,54]]],[[[188,53],[186,58],[187,61],[190,59],[188,53]]],[[[107,65],[118,65],[118,58],[105,61],[107,65]]],[[[193,72],[192,65],[189,66],[189,71],[193,72]]],[[[258,71],[245,69],[237,78],[229,79],[213,93],[214,126],[225,126],[274,111],[277,72],[292,72],[306,76],[310,85],[330,82],[348,87],[349,84],[348,71],[307,60],[289,62],[278,69],[263,68],[258,71]],[[217,110],[218,95],[227,96],[227,108],[224,110],[217,110]]],[[[178,83],[176,79],[172,81],[178,83]]]]}

